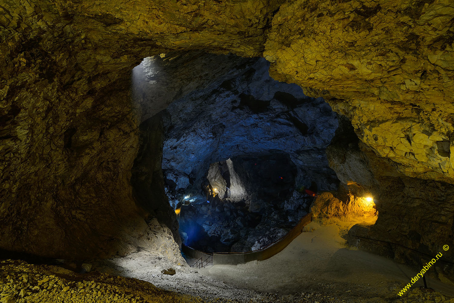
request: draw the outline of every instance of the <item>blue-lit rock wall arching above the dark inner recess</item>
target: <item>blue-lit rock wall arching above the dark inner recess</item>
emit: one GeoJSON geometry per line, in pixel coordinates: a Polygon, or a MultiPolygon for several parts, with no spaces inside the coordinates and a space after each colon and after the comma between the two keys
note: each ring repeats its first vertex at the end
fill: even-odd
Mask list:
{"type": "MultiPolygon", "coordinates": [[[[204,58],[197,62],[216,64],[204,58]]],[[[173,64],[181,65],[181,59],[173,64]]],[[[218,56],[216,66],[226,65],[222,59],[218,56]]],[[[164,111],[163,170],[175,183],[177,199],[199,194],[210,164],[270,150],[290,155],[297,167],[297,186],[314,181],[321,190],[337,188],[324,152],[338,125],[336,114],[323,99],[307,98],[300,87],[270,78],[268,66],[263,59],[237,65],[236,75],[226,73],[164,111]]]]}

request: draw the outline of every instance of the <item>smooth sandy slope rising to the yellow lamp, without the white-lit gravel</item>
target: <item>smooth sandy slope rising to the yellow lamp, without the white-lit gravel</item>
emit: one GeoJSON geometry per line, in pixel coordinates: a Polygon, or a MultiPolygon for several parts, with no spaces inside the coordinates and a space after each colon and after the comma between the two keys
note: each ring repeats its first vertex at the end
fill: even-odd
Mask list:
{"type": "MultiPolygon", "coordinates": [[[[375,254],[346,248],[346,241],[340,234],[358,222],[323,226],[311,222],[306,226],[310,232],[299,235],[270,259],[236,266],[215,263],[210,268],[200,269],[200,273],[234,287],[261,292],[316,291],[332,295],[348,292],[358,298],[375,297],[377,302],[396,298],[398,291],[416,272],[375,254]]],[[[454,285],[431,278],[427,282],[440,293],[454,295],[454,285]]],[[[422,281],[413,288],[418,286],[422,286],[422,281]]]]}

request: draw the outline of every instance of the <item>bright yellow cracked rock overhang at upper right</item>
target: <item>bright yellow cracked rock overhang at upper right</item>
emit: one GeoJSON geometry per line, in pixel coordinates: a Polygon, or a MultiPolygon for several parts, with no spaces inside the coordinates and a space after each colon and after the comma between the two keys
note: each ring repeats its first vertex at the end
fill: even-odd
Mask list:
{"type": "Polygon", "coordinates": [[[289,1],[264,56],[400,172],[454,183],[453,15],[451,0],[289,1]]]}

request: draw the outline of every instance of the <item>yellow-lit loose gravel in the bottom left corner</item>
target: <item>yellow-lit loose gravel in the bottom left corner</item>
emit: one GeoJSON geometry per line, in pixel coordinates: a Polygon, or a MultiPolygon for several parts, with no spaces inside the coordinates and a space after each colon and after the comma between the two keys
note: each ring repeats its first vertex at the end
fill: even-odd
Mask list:
{"type": "Polygon", "coordinates": [[[84,275],[19,260],[0,262],[1,303],[202,303],[132,278],[104,273],[84,275]]]}

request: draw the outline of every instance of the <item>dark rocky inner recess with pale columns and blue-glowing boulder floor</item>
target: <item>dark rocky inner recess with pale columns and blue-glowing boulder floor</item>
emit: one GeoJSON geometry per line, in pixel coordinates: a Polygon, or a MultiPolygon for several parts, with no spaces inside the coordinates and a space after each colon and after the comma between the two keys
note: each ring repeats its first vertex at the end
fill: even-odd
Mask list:
{"type": "Polygon", "coordinates": [[[295,164],[282,151],[211,164],[207,182],[217,186],[215,195],[200,190],[190,197],[189,206],[183,206],[183,243],[204,252],[248,252],[275,242],[307,214],[312,200],[300,196],[294,209],[286,207],[295,176],[295,164]]]}

